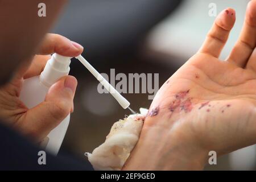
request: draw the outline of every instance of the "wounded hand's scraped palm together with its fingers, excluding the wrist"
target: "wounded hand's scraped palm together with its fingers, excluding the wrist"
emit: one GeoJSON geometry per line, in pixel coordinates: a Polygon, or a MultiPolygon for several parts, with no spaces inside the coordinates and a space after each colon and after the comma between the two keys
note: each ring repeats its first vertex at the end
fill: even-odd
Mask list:
{"type": "MultiPolygon", "coordinates": [[[[256,1],[247,14],[253,6],[256,1]]],[[[228,60],[221,61],[218,56],[233,27],[234,10],[218,16],[199,53],[156,94],[145,128],[168,130],[170,139],[182,138],[218,155],[256,142],[256,36],[250,37],[256,28],[250,24],[255,21],[248,19],[228,60]]]]}

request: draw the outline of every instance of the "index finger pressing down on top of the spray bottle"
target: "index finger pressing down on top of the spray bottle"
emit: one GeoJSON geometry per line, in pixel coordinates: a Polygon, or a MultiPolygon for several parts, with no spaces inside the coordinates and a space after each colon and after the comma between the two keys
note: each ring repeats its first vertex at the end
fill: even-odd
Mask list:
{"type": "Polygon", "coordinates": [[[47,34],[44,38],[38,53],[39,55],[49,55],[53,52],[62,56],[75,57],[82,53],[83,47],[64,36],[58,34],[47,34]]]}

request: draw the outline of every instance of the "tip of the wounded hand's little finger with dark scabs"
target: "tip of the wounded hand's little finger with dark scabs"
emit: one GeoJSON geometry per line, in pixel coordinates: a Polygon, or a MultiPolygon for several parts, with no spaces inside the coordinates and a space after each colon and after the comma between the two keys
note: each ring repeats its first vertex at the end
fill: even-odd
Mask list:
{"type": "Polygon", "coordinates": [[[224,30],[230,31],[236,21],[236,11],[232,8],[223,10],[216,18],[216,24],[224,30]]]}

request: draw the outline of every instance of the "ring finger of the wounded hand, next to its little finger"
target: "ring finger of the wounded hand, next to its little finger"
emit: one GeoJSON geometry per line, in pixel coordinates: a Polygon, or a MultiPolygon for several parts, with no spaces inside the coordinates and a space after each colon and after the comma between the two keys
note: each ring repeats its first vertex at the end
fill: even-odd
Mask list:
{"type": "Polygon", "coordinates": [[[238,38],[228,61],[245,67],[253,49],[256,46],[256,1],[250,1],[246,9],[245,22],[240,38],[238,38]]]}

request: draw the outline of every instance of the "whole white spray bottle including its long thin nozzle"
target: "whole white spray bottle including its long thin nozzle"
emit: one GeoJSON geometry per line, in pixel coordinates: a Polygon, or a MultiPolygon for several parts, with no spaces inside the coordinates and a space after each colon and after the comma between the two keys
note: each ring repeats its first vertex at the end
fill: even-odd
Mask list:
{"type": "MultiPolygon", "coordinates": [[[[117,90],[105,80],[104,77],[100,75],[82,57],[81,55],[77,56],[78,59],[98,81],[109,91],[110,94],[118,101],[118,103],[123,107],[123,109],[130,109],[130,102],[127,101],[117,90]]],[[[38,105],[40,102],[43,102],[46,98],[46,94],[51,85],[53,85],[61,77],[68,75],[69,73],[69,64],[71,63],[71,57],[65,57],[53,53],[51,59],[47,61],[44,71],[40,76],[35,76],[24,80],[23,88],[20,92],[20,100],[28,107],[28,109],[38,105]]],[[[131,110],[131,109],[130,109],[131,110]]],[[[131,110],[133,111],[133,110],[131,110]]],[[[134,111],[133,111],[134,112],[134,111]]],[[[68,115],[55,129],[53,129],[48,134],[48,143],[46,145],[46,150],[51,152],[54,155],[57,155],[59,152],[61,143],[65,137],[65,133],[68,129],[70,115],[68,115]]]]}

